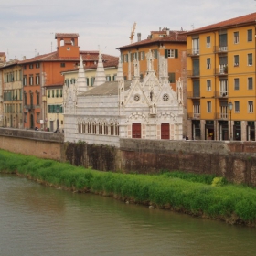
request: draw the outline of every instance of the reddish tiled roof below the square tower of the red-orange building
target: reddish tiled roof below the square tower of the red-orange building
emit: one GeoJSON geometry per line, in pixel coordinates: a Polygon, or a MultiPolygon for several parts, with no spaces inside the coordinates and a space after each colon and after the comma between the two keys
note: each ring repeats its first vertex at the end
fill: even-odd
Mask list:
{"type": "MultiPolygon", "coordinates": [[[[99,51],[80,51],[80,55],[83,60],[86,61],[98,61],[99,59],[99,51]]],[[[118,57],[102,54],[102,59],[107,61],[112,61],[118,59],[118,57]]],[[[58,52],[54,51],[44,55],[38,55],[36,57],[21,60],[19,64],[27,64],[31,62],[39,62],[39,61],[80,61],[80,57],[59,57],[58,52]]]]}

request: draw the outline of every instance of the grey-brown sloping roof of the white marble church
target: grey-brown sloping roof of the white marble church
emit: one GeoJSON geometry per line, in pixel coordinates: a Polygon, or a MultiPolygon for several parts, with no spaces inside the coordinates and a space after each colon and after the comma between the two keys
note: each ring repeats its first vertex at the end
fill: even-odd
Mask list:
{"type": "MultiPolygon", "coordinates": [[[[127,91],[131,86],[131,80],[124,81],[124,91],[127,91]]],[[[118,95],[118,82],[106,81],[105,83],[92,88],[81,94],[82,96],[100,96],[100,95],[118,95]]]]}

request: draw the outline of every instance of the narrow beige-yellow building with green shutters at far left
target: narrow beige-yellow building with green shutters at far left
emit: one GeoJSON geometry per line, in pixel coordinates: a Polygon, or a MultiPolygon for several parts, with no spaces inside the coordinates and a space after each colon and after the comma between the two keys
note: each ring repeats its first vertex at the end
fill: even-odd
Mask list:
{"type": "Polygon", "coordinates": [[[19,61],[10,60],[3,66],[3,125],[23,128],[22,68],[19,61]]]}

